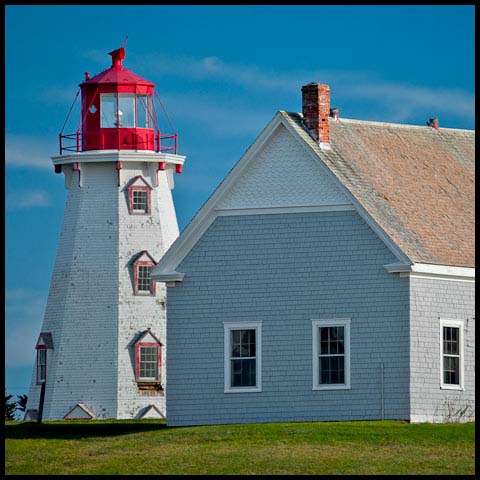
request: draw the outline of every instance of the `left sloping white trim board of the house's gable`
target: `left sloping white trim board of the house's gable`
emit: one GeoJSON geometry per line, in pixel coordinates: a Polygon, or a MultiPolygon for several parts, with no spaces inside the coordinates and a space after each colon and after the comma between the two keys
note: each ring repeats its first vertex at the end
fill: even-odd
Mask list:
{"type": "Polygon", "coordinates": [[[222,197],[229,191],[237,179],[241,177],[250,161],[258,154],[280,124],[286,126],[286,122],[282,115],[280,112],[277,112],[272,120],[270,120],[270,123],[263,129],[253,144],[250,145],[244,155],[222,180],[210,198],[200,208],[191,222],[186,226],[185,230],[160,259],[157,266],[150,273],[154,280],[162,274],[171,274],[175,271],[178,265],[201,238],[203,233],[212,224],[215,218],[217,218],[218,214],[215,211],[216,205],[218,205],[222,197]]]}

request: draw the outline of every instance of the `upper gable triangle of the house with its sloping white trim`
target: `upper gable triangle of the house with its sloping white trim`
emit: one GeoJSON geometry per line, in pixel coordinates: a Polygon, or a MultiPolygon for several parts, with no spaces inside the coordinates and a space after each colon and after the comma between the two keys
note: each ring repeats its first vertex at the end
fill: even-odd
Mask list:
{"type": "Polygon", "coordinates": [[[293,128],[285,112],[279,111],[175,240],[151,276],[155,281],[168,282],[167,286],[182,281],[183,274],[176,268],[218,216],[328,210],[357,210],[399,261],[411,263],[293,128]],[[298,178],[292,180],[297,174],[298,178]],[[281,186],[274,185],[276,181],[281,186]]]}

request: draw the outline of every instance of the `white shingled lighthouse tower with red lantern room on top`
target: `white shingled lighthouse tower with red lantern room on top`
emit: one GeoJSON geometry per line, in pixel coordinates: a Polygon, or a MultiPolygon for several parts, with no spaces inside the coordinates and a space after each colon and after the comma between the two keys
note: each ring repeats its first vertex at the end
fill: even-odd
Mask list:
{"type": "Polygon", "coordinates": [[[52,157],[67,200],[27,419],[166,415],[167,305],[150,271],[178,236],[185,156],[158,128],[155,85],[125,68],[124,48],[109,55],[85,73],[78,129],[52,157]]]}

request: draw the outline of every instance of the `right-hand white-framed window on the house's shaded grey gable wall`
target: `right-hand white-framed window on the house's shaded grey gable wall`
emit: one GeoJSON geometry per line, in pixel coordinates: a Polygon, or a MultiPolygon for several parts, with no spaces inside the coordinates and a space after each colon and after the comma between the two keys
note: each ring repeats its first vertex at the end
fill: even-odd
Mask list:
{"type": "Polygon", "coordinates": [[[312,320],[313,390],[350,388],[350,319],[312,320]]]}

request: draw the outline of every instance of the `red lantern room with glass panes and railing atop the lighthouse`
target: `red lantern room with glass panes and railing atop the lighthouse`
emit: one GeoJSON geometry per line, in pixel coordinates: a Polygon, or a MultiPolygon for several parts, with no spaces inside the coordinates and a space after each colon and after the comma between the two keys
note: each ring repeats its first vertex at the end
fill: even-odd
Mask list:
{"type": "Polygon", "coordinates": [[[155,84],[122,65],[123,47],[109,55],[111,67],[92,78],[85,73],[80,84],[81,125],[75,134],[60,134],[60,155],[64,150],[150,150],[176,154],[177,134],[161,134],[158,129],[155,84]],[[68,141],[70,145],[66,145],[68,141]]]}

